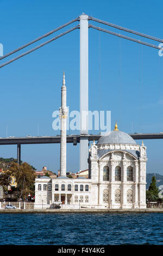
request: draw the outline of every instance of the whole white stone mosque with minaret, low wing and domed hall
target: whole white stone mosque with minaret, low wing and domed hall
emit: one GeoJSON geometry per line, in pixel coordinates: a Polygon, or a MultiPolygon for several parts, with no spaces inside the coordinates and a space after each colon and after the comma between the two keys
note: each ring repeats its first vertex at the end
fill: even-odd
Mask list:
{"type": "Polygon", "coordinates": [[[34,209],[145,209],[146,146],[115,129],[93,141],[89,149],[89,178],[66,176],[66,86],[61,87],[60,177],[35,179],[34,209]]]}

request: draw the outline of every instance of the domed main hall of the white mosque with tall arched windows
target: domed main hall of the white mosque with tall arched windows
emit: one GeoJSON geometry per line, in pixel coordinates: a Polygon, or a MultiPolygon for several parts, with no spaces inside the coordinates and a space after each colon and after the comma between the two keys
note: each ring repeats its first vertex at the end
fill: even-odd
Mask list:
{"type": "Polygon", "coordinates": [[[89,166],[97,197],[92,197],[92,204],[110,209],[146,208],[146,162],[143,142],[137,145],[116,127],[97,144],[94,141],[89,150],[89,166]]]}

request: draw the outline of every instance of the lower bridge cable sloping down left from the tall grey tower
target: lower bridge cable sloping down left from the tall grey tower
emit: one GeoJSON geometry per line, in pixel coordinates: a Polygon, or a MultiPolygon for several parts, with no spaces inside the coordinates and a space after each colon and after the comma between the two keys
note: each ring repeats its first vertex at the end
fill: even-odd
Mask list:
{"type": "Polygon", "coordinates": [[[13,61],[16,61],[16,59],[21,58],[21,57],[23,57],[23,56],[29,54],[30,52],[33,52],[33,51],[39,49],[40,47],[42,47],[42,46],[44,46],[44,45],[46,45],[46,44],[48,44],[48,43],[51,43],[52,41],[54,41],[54,40],[56,40],[56,39],[62,37],[62,35],[65,35],[65,34],[67,34],[67,33],[70,33],[71,31],[73,31],[73,30],[75,30],[75,29],[77,29],[77,28],[79,28],[79,27],[80,27],[80,25],[77,25],[76,27],[73,27],[73,28],[67,30],[67,31],[64,32],[64,33],[61,33],[60,35],[57,35],[56,37],[54,37],[54,38],[52,38],[52,39],[46,41],[45,43],[36,46],[36,47],[33,48],[32,50],[29,50],[29,51],[26,51],[26,52],[22,53],[21,55],[15,57],[15,58],[13,58],[13,59],[11,59],[10,61],[3,63],[3,64],[0,66],[0,68],[2,68],[2,67],[4,67],[4,66],[8,65],[9,63],[11,63],[11,62],[13,62],[13,61]]]}

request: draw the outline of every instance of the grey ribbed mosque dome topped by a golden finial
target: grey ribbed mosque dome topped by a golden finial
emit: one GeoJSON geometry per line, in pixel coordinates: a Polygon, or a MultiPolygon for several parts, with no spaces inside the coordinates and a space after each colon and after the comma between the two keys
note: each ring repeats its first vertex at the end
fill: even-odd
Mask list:
{"type": "Polygon", "coordinates": [[[127,133],[121,132],[117,129],[117,123],[115,129],[109,133],[102,135],[97,144],[137,144],[135,140],[127,133]]]}

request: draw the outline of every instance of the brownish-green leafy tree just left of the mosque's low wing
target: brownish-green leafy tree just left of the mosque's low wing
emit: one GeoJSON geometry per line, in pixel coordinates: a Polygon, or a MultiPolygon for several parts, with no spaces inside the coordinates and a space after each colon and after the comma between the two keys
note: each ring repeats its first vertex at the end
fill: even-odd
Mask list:
{"type": "Polygon", "coordinates": [[[18,199],[26,199],[29,193],[34,193],[35,171],[32,166],[26,162],[21,165],[13,162],[10,171],[16,178],[18,199]]]}

